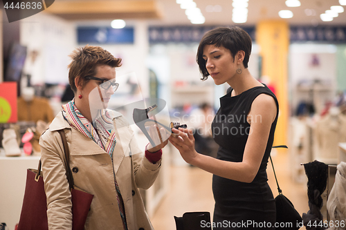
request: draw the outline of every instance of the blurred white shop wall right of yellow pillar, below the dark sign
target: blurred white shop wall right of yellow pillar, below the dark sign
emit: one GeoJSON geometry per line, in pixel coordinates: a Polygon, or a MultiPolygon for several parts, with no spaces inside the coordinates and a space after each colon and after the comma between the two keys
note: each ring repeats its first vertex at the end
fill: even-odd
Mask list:
{"type": "Polygon", "coordinates": [[[301,101],[313,102],[319,113],[334,99],[336,89],[336,46],[329,44],[291,44],[289,48],[289,84],[294,113],[301,101]],[[311,83],[320,81],[311,90],[311,83]],[[298,87],[300,84],[300,87],[298,87]]]}

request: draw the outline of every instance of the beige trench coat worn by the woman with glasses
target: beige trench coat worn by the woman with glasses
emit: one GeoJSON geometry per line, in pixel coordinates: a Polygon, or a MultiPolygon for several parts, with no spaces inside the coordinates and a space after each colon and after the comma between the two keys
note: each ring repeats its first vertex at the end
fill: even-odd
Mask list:
{"type": "MultiPolygon", "coordinates": [[[[126,126],[125,119],[114,119],[117,127],[126,126]]],[[[62,163],[63,146],[57,130],[64,129],[70,149],[70,166],[75,189],[94,195],[84,229],[123,230],[116,199],[113,170],[125,204],[129,230],[153,229],[138,188],[149,189],[161,168],[161,160],[152,164],[138,149],[131,128],[117,128],[116,147],[111,158],[98,144],[71,128],[59,113],[41,136],[42,171],[47,196],[49,229],[71,229],[71,193],[62,163]],[[134,154],[131,153],[141,153],[134,154]],[[132,162],[131,163],[131,158],[132,162]]]]}

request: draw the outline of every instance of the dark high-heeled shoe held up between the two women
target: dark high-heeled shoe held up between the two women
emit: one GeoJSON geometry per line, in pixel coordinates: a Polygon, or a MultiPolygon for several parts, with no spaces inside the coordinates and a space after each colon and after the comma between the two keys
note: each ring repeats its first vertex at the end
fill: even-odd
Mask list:
{"type": "MultiPolygon", "coordinates": [[[[154,111],[155,108],[157,108],[156,104],[145,109],[134,108],[133,113],[134,122],[136,123],[138,128],[140,128],[140,130],[144,133],[145,137],[147,137],[152,146],[156,146],[156,144],[154,143],[152,137],[150,137],[147,129],[145,128],[146,125],[160,125],[163,128],[165,128],[169,133],[172,133],[172,128],[187,128],[186,124],[181,125],[179,122],[171,122],[170,127],[167,127],[164,124],[161,124],[160,122],[156,121],[155,119],[149,119],[148,113],[154,111]]],[[[161,140],[161,134],[159,133],[158,135],[160,136],[161,140]]]]}

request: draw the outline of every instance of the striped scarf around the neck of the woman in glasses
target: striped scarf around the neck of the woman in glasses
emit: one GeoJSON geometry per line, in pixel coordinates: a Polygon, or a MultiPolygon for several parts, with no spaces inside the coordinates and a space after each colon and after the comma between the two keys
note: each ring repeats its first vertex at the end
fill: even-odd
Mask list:
{"type": "MultiPolygon", "coordinates": [[[[107,110],[102,109],[98,111],[98,115],[94,119],[93,123],[91,123],[82,115],[82,113],[80,113],[80,111],[78,111],[78,108],[75,106],[75,99],[73,99],[71,102],[62,105],[62,115],[73,128],[86,135],[86,137],[89,137],[96,144],[98,144],[100,148],[106,151],[109,157],[111,157],[111,162],[113,164],[113,151],[116,146],[116,133],[113,128],[112,119],[107,110]]],[[[115,174],[114,183],[116,185],[116,199],[118,200],[122,226],[125,230],[127,230],[124,201],[122,200],[115,174]]]]}

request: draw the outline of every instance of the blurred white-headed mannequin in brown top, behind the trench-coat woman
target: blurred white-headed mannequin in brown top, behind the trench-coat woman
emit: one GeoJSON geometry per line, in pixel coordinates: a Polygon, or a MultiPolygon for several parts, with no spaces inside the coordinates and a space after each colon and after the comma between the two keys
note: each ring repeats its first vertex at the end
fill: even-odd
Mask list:
{"type": "Polygon", "coordinates": [[[53,110],[48,99],[35,97],[35,89],[23,88],[21,97],[18,98],[18,120],[27,122],[51,122],[54,118],[53,110]]]}

